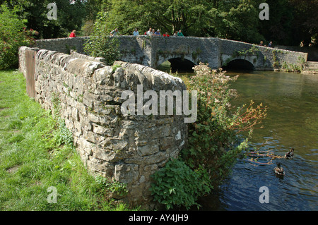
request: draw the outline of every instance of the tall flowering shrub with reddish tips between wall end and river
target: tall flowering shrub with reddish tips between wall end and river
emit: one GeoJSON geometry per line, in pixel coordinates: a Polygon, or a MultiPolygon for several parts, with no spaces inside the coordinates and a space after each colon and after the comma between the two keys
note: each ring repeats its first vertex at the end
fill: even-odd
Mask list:
{"type": "Polygon", "coordinates": [[[194,71],[196,75],[190,78],[188,87],[198,92],[198,114],[196,122],[188,125],[188,147],[181,157],[192,169],[206,169],[213,183],[222,181],[237,154],[247,146],[248,139],[242,142],[237,134],[250,136],[265,118],[266,107],[260,104],[254,108],[251,102],[235,110],[230,102],[237,92],[230,84],[238,76],[227,76],[204,63],[195,66],[194,71]]]}

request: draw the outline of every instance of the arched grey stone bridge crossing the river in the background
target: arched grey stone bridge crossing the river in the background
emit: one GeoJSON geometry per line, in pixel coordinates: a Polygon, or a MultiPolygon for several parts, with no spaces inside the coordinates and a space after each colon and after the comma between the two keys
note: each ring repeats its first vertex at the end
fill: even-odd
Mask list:
{"type": "MultiPolygon", "coordinates": [[[[89,37],[38,40],[40,49],[67,53],[70,49],[83,53],[89,37]]],[[[157,68],[170,61],[174,69],[189,69],[199,62],[211,68],[233,66],[253,70],[301,68],[307,53],[260,47],[245,42],[215,37],[119,36],[122,61],[157,68]]]]}

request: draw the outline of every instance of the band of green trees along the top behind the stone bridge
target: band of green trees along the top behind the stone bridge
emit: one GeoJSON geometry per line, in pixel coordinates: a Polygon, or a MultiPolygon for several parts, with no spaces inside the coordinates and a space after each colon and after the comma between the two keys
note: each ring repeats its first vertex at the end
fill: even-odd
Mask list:
{"type": "MultiPolygon", "coordinates": [[[[0,4],[5,0],[0,0],[0,4]]],[[[318,36],[318,0],[56,0],[57,20],[48,20],[50,0],[7,0],[25,26],[40,32],[39,38],[68,37],[71,30],[90,35],[98,12],[107,13],[107,33],[119,28],[132,35],[150,27],[170,35],[221,37],[245,42],[298,45],[318,36]],[[259,4],[269,4],[269,20],[259,20],[259,4]]]]}

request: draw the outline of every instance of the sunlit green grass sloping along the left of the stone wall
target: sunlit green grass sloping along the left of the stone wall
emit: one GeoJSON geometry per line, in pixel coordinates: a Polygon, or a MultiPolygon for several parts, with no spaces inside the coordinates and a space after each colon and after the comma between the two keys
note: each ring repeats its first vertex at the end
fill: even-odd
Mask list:
{"type": "Polygon", "coordinates": [[[26,95],[23,74],[0,71],[0,210],[131,210],[107,197],[64,136],[26,95]],[[47,201],[51,186],[57,203],[47,201]]]}

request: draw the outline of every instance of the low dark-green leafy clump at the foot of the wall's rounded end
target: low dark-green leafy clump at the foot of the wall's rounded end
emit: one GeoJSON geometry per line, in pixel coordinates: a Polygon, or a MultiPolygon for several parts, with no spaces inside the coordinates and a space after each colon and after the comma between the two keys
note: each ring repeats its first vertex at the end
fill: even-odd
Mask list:
{"type": "MultiPolygon", "coordinates": [[[[209,193],[211,186],[206,171],[193,171],[184,162],[174,159],[153,174],[154,183],[151,193],[155,201],[165,205],[167,209],[175,206],[186,207],[198,205],[196,200],[209,193]]],[[[198,205],[199,206],[199,205],[198,205]]]]}

